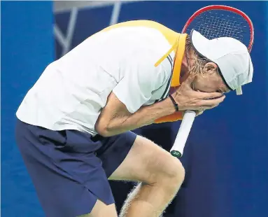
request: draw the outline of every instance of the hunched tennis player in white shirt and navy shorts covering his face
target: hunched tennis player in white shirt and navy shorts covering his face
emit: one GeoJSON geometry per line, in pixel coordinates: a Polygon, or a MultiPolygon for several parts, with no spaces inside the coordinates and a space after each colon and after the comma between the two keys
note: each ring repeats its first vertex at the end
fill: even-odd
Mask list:
{"type": "Polygon", "coordinates": [[[233,38],[146,20],[87,38],[48,65],[16,113],[17,145],[46,216],[118,216],[108,179],[139,183],[120,216],[161,216],[183,166],[129,130],[212,109],[252,76],[248,50],[233,38]]]}

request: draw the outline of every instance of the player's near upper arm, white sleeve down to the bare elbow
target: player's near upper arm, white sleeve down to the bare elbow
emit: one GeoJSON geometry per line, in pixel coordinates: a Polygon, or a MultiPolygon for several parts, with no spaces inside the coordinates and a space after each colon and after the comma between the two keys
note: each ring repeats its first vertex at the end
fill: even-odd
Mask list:
{"type": "Polygon", "coordinates": [[[126,70],[125,76],[108,96],[106,106],[95,124],[99,134],[122,125],[132,113],[148,102],[154,90],[166,83],[169,79],[167,71],[161,64],[157,67],[154,64],[144,53],[122,64],[120,70],[126,70]]]}

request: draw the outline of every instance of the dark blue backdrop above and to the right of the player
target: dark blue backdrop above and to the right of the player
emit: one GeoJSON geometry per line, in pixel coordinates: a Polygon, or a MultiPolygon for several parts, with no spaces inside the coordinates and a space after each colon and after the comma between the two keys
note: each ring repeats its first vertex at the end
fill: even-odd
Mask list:
{"type": "MultiPolygon", "coordinates": [[[[182,159],[186,179],[166,216],[265,217],[268,216],[267,139],[267,3],[261,1],[145,1],[122,4],[118,22],[148,19],[181,31],[189,16],[211,4],[234,6],[253,20],[255,44],[253,83],[244,95],[227,94],[223,105],[207,111],[195,121],[182,159]],[[266,18],[267,18],[266,17],[266,18]]],[[[81,9],[72,45],[107,27],[113,7],[81,9]]],[[[268,16],[267,16],[268,17],[268,16]]],[[[66,31],[69,13],[55,16],[66,31]]],[[[56,55],[61,47],[57,43],[56,55]]],[[[179,123],[143,127],[137,132],[169,150],[179,123]],[[170,130],[171,129],[171,130],[170,130]],[[159,132],[159,133],[158,133],[159,132]],[[160,136],[155,136],[160,135],[160,136]]],[[[112,183],[118,207],[130,184],[112,183]],[[121,192],[121,193],[119,193],[121,192]]]]}

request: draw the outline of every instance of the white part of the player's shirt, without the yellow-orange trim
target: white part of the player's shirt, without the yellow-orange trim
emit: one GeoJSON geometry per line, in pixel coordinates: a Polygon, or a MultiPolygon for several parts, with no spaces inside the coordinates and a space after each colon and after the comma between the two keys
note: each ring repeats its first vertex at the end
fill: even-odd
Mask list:
{"type": "Polygon", "coordinates": [[[155,63],[170,48],[160,31],[149,27],[101,31],[43,71],[17,118],[50,130],[95,135],[94,125],[112,91],[131,113],[167,97],[174,52],[155,63]]]}

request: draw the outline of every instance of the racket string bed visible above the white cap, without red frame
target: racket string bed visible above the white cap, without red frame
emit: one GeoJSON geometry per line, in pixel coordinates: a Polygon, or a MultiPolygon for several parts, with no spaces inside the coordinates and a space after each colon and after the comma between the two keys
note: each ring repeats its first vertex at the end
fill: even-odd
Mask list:
{"type": "Polygon", "coordinates": [[[247,35],[246,31],[250,31],[246,20],[241,15],[231,12],[220,13],[216,10],[201,13],[190,26],[189,31],[195,29],[209,39],[232,37],[243,43],[248,41],[248,38],[244,38],[247,35]]]}

